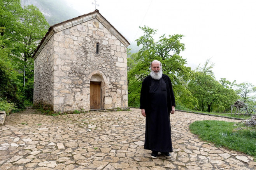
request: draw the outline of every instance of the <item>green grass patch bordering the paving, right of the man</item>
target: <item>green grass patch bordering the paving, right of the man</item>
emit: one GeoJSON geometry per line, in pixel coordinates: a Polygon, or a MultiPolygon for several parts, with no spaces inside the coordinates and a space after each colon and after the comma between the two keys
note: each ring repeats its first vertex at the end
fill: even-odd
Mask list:
{"type": "Polygon", "coordinates": [[[246,127],[243,123],[237,125],[234,122],[204,120],[195,121],[189,128],[203,141],[256,158],[256,127],[246,127]]]}

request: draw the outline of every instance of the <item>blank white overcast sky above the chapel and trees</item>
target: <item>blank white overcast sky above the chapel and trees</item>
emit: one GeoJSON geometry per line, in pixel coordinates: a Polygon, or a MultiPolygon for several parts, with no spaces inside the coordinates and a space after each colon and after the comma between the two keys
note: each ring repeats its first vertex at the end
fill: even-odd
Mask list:
{"type": "MultiPolygon", "coordinates": [[[[66,0],[82,14],[95,10],[94,0],[66,0]]],[[[195,69],[210,59],[216,80],[256,86],[256,0],[96,0],[96,7],[131,44],[142,36],[139,26],[158,35],[182,34],[181,56],[195,69]]]]}

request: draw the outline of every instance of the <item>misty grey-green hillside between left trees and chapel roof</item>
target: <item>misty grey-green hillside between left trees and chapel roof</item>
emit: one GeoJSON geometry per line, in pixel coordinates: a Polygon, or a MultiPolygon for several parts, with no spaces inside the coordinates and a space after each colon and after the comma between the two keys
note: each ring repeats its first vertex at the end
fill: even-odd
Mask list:
{"type": "Polygon", "coordinates": [[[21,0],[22,6],[34,5],[44,14],[50,25],[79,16],[64,0],[21,0]]]}

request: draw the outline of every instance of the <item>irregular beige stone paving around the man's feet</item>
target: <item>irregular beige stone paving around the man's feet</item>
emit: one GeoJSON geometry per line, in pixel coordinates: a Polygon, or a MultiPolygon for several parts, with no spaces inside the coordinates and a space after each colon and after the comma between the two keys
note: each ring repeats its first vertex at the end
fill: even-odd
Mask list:
{"type": "Polygon", "coordinates": [[[189,132],[196,120],[238,120],[176,111],[172,158],[145,150],[140,109],[47,116],[26,109],[0,126],[0,170],[252,170],[251,156],[217,148],[189,132]]]}

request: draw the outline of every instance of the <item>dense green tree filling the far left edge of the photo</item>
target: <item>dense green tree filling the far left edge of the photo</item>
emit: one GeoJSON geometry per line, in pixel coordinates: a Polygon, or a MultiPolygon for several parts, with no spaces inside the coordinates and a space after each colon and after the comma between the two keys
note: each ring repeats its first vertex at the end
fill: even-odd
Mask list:
{"type": "Polygon", "coordinates": [[[20,0],[0,1],[0,98],[23,108],[22,85],[11,55],[20,10],[20,0]]]}

